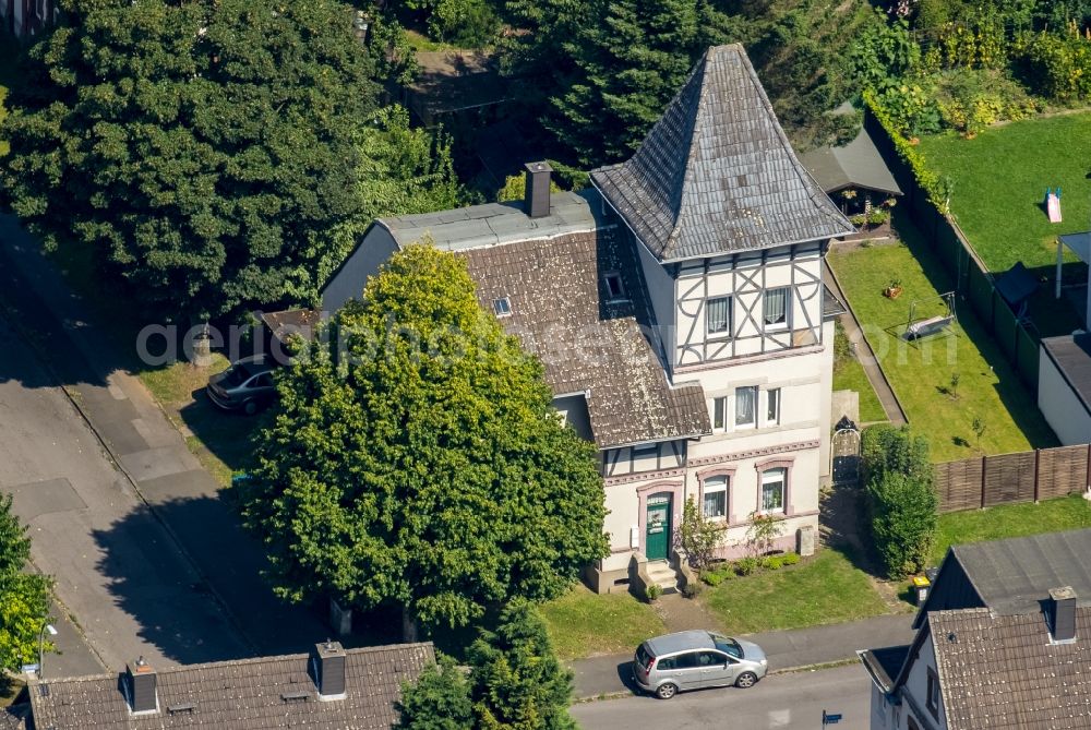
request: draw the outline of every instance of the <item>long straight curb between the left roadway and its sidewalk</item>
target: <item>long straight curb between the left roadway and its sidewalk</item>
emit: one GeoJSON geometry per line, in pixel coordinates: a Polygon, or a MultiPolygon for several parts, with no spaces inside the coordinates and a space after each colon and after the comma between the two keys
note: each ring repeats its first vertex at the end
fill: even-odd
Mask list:
{"type": "MultiPolygon", "coordinates": [[[[15,271],[20,271],[19,266],[16,266],[12,262],[11,254],[7,253],[7,252],[3,252],[2,249],[0,249],[0,259],[5,259],[9,266],[12,266],[15,271]]],[[[72,296],[75,297],[76,299],[80,299],[80,296],[76,292],[74,292],[74,291],[72,292],[72,296]]],[[[38,299],[40,300],[40,297],[38,299]]],[[[44,301],[43,301],[43,303],[45,304],[44,301]]],[[[61,328],[61,331],[65,331],[67,332],[68,328],[63,324],[63,318],[58,316],[57,312],[55,312],[52,310],[52,308],[49,307],[48,304],[45,304],[45,307],[46,307],[46,310],[53,316],[57,325],[61,328]]],[[[227,621],[231,625],[231,627],[235,630],[236,634],[238,634],[238,636],[241,639],[243,646],[245,646],[247,649],[251,653],[251,656],[253,656],[253,657],[261,656],[261,651],[259,650],[257,645],[254,644],[251,641],[250,636],[245,633],[245,631],[243,631],[243,629],[242,629],[242,626],[243,626],[242,622],[239,620],[239,618],[237,615],[235,615],[235,612],[231,611],[230,608],[228,608],[227,602],[224,600],[224,597],[220,596],[219,591],[212,584],[212,581],[208,578],[207,575],[205,575],[204,571],[201,570],[200,565],[197,564],[196,560],[194,560],[193,555],[190,554],[189,550],[185,549],[185,546],[182,543],[181,539],[178,537],[178,535],[175,532],[175,530],[170,527],[170,525],[167,524],[167,522],[163,518],[163,516],[156,511],[156,508],[152,505],[152,503],[148,502],[147,498],[144,496],[144,493],[141,491],[140,486],[137,484],[136,480],[129,472],[129,470],[125,469],[125,467],[121,464],[120,458],[118,457],[117,454],[113,453],[113,450],[110,447],[110,445],[106,441],[106,439],[103,438],[103,434],[99,433],[98,429],[95,428],[95,424],[92,422],[91,417],[84,410],[83,406],[80,405],[80,398],[76,398],[76,397],[73,396],[73,394],[72,394],[72,392],[70,390],[70,386],[64,384],[64,379],[61,378],[58,374],[57,370],[53,369],[53,366],[50,362],[49,358],[41,351],[41,349],[39,348],[38,343],[35,342],[34,337],[27,336],[25,327],[23,327],[22,324],[17,321],[19,320],[19,316],[17,316],[19,315],[19,311],[17,311],[17,309],[15,309],[9,302],[7,302],[2,298],[0,298],[0,310],[3,310],[3,312],[8,314],[8,316],[4,318],[4,319],[8,320],[8,323],[11,325],[12,330],[20,336],[20,338],[23,339],[23,342],[25,342],[29,346],[31,350],[35,354],[35,357],[41,363],[43,368],[45,368],[46,372],[48,372],[50,374],[50,376],[52,378],[52,380],[60,387],[60,391],[64,394],[64,397],[68,399],[69,403],[72,404],[72,406],[75,408],[75,411],[77,414],[80,414],[80,418],[83,420],[84,423],[87,424],[87,428],[91,430],[91,432],[95,434],[95,440],[101,446],[105,455],[110,460],[110,463],[113,465],[113,467],[118,471],[120,471],[122,476],[124,476],[125,481],[128,481],[129,484],[133,488],[133,493],[136,495],[136,498],[140,500],[140,502],[145,506],[145,508],[147,508],[147,511],[152,514],[152,516],[155,518],[155,520],[159,525],[163,526],[164,531],[167,534],[167,536],[175,543],[175,547],[178,549],[179,553],[189,563],[190,567],[193,570],[193,573],[202,582],[202,584],[204,585],[204,587],[207,588],[208,595],[212,596],[212,598],[213,598],[214,601],[216,601],[216,606],[220,609],[220,611],[223,611],[225,618],[227,619],[227,621]]],[[[73,342],[72,345],[75,346],[75,343],[73,342]]],[[[81,352],[81,355],[82,355],[82,352],[81,352]]],[[[92,364],[91,364],[89,361],[87,362],[87,366],[92,367],[92,364]]],[[[161,411],[163,407],[159,405],[159,402],[156,400],[155,398],[153,398],[152,400],[156,404],[156,406],[161,411]]],[[[168,421],[169,421],[169,419],[168,419],[168,421]]],[[[177,429],[175,429],[175,430],[177,431],[177,429]]],[[[58,603],[60,601],[58,601],[58,603]]],[[[91,646],[89,643],[87,645],[91,646]]],[[[92,650],[95,653],[96,657],[98,657],[99,660],[101,661],[101,657],[98,656],[98,649],[92,647],[92,650]]],[[[106,662],[103,662],[103,663],[105,665],[106,662]]]]}

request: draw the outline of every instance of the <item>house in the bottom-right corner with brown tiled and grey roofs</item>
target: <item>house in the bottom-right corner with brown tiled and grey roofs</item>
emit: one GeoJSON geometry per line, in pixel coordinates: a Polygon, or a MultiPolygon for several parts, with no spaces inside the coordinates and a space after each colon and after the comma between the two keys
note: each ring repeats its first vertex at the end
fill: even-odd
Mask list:
{"type": "Polygon", "coordinates": [[[872,730],[1091,727],[1091,530],[952,547],[909,646],[860,651],[872,730]]]}

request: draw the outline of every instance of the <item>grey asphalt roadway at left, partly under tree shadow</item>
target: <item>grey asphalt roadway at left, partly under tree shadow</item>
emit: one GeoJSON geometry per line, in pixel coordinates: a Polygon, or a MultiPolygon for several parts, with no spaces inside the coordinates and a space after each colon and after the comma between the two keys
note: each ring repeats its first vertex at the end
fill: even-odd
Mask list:
{"type": "Polygon", "coordinates": [[[55,576],[58,598],[110,668],[141,655],[165,667],[249,654],[192,564],[2,316],[0,489],[14,494],[14,511],[29,525],[35,565],[55,576]]]}

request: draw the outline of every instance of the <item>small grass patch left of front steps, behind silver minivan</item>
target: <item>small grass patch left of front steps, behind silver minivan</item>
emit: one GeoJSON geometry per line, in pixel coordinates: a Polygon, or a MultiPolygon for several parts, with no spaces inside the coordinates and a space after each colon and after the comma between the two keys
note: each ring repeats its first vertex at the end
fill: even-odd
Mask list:
{"type": "Polygon", "coordinates": [[[667,631],[655,609],[632,594],[598,596],[583,584],[546,603],[542,615],[558,655],[565,660],[631,651],[667,631]]]}

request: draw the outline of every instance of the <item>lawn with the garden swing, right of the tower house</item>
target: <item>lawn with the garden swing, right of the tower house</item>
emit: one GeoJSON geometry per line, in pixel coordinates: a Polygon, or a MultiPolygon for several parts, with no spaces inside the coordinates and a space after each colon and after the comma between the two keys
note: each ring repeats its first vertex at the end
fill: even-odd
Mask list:
{"type": "Polygon", "coordinates": [[[949,334],[922,343],[901,338],[910,302],[926,300],[926,313],[936,309],[939,291],[951,287],[942,262],[911,224],[898,222],[906,244],[832,252],[829,263],[876,352],[887,380],[906,409],[909,422],[926,435],[932,458],[946,462],[978,453],[971,428],[985,423],[980,448],[988,454],[1054,446],[1056,436],[1039,412],[1033,395],[1019,381],[995,343],[958,302],[958,323],[949,334]],[[898,299],[883,296],[894,274],[901,279],[898,299]],[[949,395],[951,374],[959,374],[958,397],[949,395]]]}

